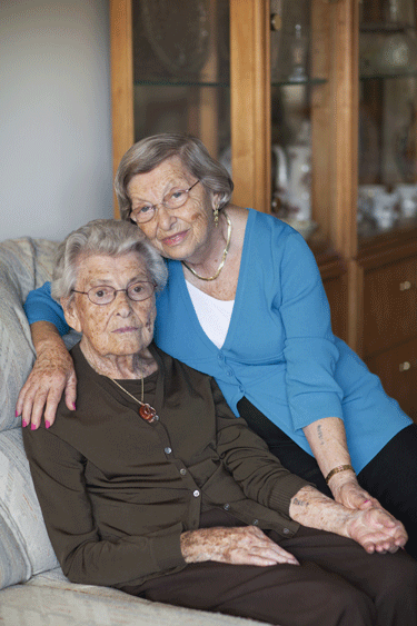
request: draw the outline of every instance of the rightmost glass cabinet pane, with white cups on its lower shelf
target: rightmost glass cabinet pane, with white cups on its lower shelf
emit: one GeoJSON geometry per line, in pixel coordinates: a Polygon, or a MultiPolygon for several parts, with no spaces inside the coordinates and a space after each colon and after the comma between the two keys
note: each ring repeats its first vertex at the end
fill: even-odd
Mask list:
{"type": "Polygon", "coordinates": [[[417,227],[415,0],[361,0],[359,247],[417,227]]]}

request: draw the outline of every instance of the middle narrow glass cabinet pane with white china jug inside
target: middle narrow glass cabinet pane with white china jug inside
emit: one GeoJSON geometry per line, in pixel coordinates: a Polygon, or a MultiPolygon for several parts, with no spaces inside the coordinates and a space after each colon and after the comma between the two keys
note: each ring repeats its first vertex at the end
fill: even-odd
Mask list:
{"type": "Polygon", "coordinates": [[[271,212],[312,248],[330,241],[329,4],[270,0],[271,212]]]}

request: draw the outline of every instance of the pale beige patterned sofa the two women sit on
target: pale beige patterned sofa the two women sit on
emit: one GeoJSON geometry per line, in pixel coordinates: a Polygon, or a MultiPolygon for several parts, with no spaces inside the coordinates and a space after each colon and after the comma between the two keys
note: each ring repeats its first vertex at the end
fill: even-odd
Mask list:
{"type": "MultiPolygon", "coordinates": [[[[57,244],[0,244],[0,624],[1,626],[239,626],[220,614],[133,598],[116,589],[75,585],[49,543],[24,456],[18,393],[33,347],[22,302],[51,276],[57,244]]],[[[69,337],[73,344],[76,337],[69,337]]]]}

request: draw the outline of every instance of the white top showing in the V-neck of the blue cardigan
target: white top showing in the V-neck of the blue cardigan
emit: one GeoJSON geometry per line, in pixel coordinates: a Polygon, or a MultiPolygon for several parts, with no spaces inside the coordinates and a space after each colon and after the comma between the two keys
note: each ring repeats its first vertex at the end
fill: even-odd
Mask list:
{"type": "Polygon", "coordinates": [[[200,291],[188,280],[186,285],[202,330],[215,346],[221,348],[229,329],[235,300],[218,300],[200,291]]]}

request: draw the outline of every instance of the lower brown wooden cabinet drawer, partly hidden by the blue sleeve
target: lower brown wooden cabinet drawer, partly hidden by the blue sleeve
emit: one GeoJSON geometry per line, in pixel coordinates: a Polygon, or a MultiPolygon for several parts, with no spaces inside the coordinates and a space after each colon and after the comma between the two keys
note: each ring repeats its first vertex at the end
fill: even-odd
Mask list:
{"type": "Polygon", "coordinates": [[[417,339],[366,359],[383,387],[417,423],[417,339]]]}

